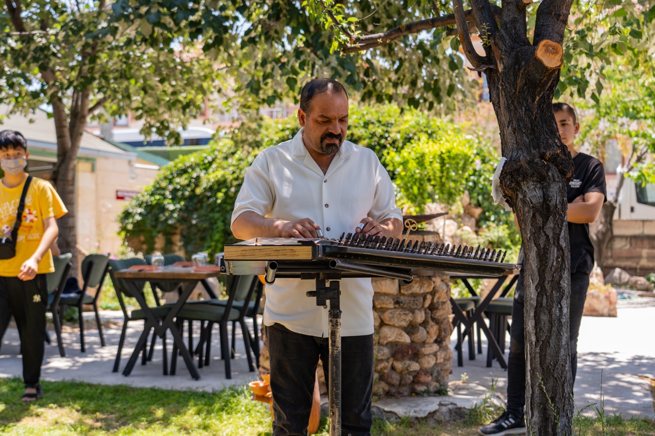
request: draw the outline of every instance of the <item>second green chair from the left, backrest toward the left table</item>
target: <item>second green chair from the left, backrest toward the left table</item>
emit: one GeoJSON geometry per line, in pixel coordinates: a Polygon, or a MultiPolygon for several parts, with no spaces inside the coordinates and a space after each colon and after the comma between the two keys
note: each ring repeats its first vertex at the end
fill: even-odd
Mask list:
{"type": "Polygon", "coordinates": [[[77,308],[80,326],[80,348],[82,352],[86,351],[84,347],[84,317],[82,316],[83,305],[90,304],[93,306],[93,311],[96,314],[96,325],[98,326],[98,334],[100,335],[100,346],[105,346],[105,336],[102,334],[102,323],[100,323],[100,314],[98,313],[98,300],[100,300],[100,293],[102,291],[102,283],[107,276],[107,269],[109,268],[109,256],[102,254],[92,254],[84,257],[81,266],[82,292],[79,294],[62,295],[59,304],[66,306],[74,306],[77,308]],[[96,287],[96,295],[93,297],[86,293],[86,290],[96,287]]]}

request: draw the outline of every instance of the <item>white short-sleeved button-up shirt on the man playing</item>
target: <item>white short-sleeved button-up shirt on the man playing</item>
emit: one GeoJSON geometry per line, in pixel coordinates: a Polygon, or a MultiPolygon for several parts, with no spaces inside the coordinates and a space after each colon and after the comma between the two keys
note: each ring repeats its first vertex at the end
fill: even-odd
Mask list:
{"type": "MultiPolygon", "coordinates": [[[[391,179],[373,151],[343,141],[324,174],[302,134],[301,129],[290,141],[264,149],[255,158],[236,198],[232,222],[245,211],[286,221],[309,218],[326,238],[339,238],[341,232],[354,232],[364,217],[402,220],[391,179]]],[[[327,308],[305,295],[314,287],[314,280],[282,278],[267,285],[264,324],[280,323],[296,333],[327,337],[327,308]]],[[[372,309],[370,278],[341,280],[341,335],[371,335],[372,309]]]]}

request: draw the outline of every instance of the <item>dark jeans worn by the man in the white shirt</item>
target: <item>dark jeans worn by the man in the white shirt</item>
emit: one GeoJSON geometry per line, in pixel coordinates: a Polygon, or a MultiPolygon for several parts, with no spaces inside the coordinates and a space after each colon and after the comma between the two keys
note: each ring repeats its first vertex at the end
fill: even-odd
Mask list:
{"type": "MultiPolygon", "coordinates": [[[[266,327],[271,358],[273,436],[307,435],[318,359],[328,376],[329,340],[301,335],[280,324],[266,327]]],[[[329,387],[328,387],[329,391],[329,387]]],[[[341,432],[370,436],[373,335],[341,338],[341,432]]]]}

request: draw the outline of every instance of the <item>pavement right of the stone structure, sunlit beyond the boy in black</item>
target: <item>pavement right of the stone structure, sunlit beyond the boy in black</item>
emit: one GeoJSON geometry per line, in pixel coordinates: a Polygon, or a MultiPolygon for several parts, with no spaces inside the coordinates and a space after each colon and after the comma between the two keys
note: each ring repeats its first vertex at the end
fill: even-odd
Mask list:
{"type": "MultiPolygon", "coordinates": [[[[650,382],[643,377],[655,378],[655,298],[636,297],[620,299],[616,318],[586,316],[582,319],[578,339],[578,376],[574,385],[574,397],[578,410],[590,403],[600,406],[601,394],[605,411],[624,417],[642,416],[655,418],[654,401],[650,382]],[[602,390],[601,390],[602,377],[602,390]]],[[[509,335],[506,336],[509,348],[509,335]]],[[[454,347],[457,337],[453,336],[454,347]]],[[[507,393],[507,371],[497,361],[486,367],[487,346],[483,341],[484,354],[476,360],[468,360],[464,352],[464,367],[457,367],[453,360],[451,381],[460,380],[466,372],[468,383],[486,388],[495,385],[501,395],[507,393]]],[[[505,352],[507,359],[508,353],[505,352]]],[[[591,408],[584,414],[593,416],[591,408]]]]}

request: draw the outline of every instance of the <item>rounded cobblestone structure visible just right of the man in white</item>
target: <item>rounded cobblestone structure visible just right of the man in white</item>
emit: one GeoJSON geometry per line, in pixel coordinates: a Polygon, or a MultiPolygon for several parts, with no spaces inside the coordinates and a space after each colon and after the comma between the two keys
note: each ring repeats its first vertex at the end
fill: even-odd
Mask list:
{"type": "Polygon", "coordinates": [[[417,277],[409,284],[375,278],[373,290],[373,395],[444,393],[453,358],[448,278],[417,277]]]}

